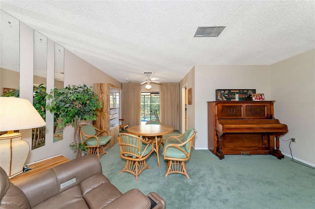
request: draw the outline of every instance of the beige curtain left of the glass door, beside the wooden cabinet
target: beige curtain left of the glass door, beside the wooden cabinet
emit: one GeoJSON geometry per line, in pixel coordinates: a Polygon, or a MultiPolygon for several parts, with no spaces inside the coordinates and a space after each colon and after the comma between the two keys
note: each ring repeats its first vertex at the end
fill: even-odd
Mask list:
{"type": "Polygon", "coordinates": [[[129,127],[141,124],[140,83],[122,83],[122,117],[129,127]]]}

